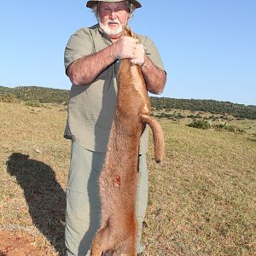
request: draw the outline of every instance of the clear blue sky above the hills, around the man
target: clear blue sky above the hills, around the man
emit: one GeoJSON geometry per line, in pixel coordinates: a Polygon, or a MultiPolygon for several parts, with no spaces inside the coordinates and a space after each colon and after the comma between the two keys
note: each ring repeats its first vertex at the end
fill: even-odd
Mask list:
{"type": "MultiPolygon", "coordinates": [[[[70,89],[68,38],[96,23],[84,0],[8,0],[0,8],[0,85],[70,89]]],[[[255,0],[141,0],[131,27],[157,45],[161,96],[256,105],[255,0]]]]}

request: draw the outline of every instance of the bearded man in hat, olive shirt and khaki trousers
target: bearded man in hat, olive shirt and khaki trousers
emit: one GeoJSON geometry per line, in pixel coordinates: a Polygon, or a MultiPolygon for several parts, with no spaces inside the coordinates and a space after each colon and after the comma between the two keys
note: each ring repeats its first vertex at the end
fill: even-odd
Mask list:
{"type": "MultiPolygon", "coordinates": [[[[160,94],[166,84],[166,72],[154,43],[140,35],[134,39],[122,34],[122,25],[127,24],[134,9],[141,7],[140,3],[97,0],[88,1],[86,6],[94,10],[98,24],[75,32],[65,49],[66,73],[73,83],[64,135],[72,139],[67,183],[67,256],[89,255],[91,241],[101,225],[98,178],[115,110],[119,60],[130,58],[142,67],[148,91],[160,94]]],[[[147,143],[146,130],[139,155],[137,253],[143,252],[140,240],[148,201],[147,143]]]]}

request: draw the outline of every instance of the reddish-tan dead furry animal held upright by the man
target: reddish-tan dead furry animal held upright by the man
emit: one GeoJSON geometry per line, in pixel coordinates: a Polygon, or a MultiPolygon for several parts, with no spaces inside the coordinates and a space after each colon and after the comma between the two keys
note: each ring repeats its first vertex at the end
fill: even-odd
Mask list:
{"type": "MultiPolygon", "coordinates": [[[[125,36],[136,37],[126,26],[125,36]]],[[[124,59],[119,66],[116,113],[110,132],[105,164],[100,177],[102,227],[90,249],[90,256],[137,254],[137,166],[139,139],[148,124],[154,137],[155,160],[164,155],[164,137],[152,119],[148,91],[141,67],[124,59]]]]}

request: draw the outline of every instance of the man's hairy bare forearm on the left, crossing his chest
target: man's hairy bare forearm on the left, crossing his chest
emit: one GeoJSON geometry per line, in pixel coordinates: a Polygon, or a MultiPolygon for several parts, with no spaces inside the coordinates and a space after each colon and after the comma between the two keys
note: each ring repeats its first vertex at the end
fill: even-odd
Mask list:
{"type": "Polygon", "coordinates": [[[67,75],[73,84],[90,84],[115,60],[112,44],[96,54],[87,55],[79,60],[73,61],[73,63],[67,67],[67,75]]]}

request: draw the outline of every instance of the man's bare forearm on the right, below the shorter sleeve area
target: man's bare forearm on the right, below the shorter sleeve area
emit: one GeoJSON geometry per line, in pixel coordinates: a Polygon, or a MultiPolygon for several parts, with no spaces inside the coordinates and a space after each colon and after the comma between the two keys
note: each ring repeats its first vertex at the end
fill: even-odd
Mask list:
{"type": "Polygon", "coordinates": [[[155,67],[147,56],[142,66],[142,72],[148,91],[154,94],[162,93],[166,84],[166,72],[155,67]]]}

